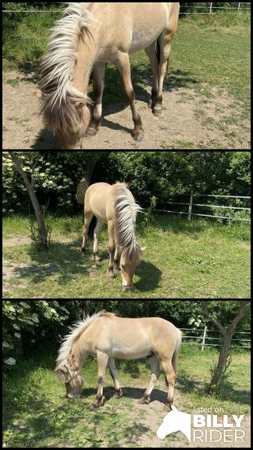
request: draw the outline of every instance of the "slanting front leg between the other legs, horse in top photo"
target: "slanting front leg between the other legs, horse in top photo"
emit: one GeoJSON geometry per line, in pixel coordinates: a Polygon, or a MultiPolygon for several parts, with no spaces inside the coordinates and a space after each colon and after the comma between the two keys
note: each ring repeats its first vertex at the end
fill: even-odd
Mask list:
{"type": "Polygon", "coordinates": [[[129,105],[133,114],[133,138],[135,139],[135,141],[141,142],[144,139],[144,129],[142,128],[142,120],[140,118],[140,114],[138,114],[138,111],[135,107],[135,93],[133,91],[133,84],[131,81],[131,66],[129,61],[129,54],[119,51],[114,62],[120,71],[120,75],[122,76],[124,94],[129,101],[129,105]]]}

